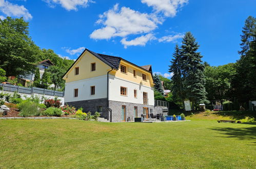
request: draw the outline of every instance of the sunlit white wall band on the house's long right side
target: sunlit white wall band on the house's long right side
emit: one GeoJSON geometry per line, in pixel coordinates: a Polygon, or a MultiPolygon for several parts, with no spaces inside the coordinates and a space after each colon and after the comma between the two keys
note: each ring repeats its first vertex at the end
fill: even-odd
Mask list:
{"type": "Polygon", "coordinates": [[[143,92],[148,94],[148,105],[154,105],[153,88],[130,82],[125,79],[110,75],[109,78],[109,100],[143,104],[143,92]],[[120,94],[120,88],[127,88],[127,96],[120,94]],[[134,98],[134,90],[137,90],[137,98],[134,98]]]}

